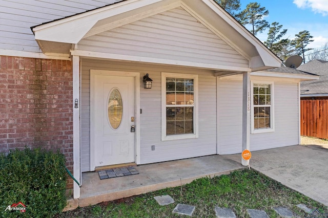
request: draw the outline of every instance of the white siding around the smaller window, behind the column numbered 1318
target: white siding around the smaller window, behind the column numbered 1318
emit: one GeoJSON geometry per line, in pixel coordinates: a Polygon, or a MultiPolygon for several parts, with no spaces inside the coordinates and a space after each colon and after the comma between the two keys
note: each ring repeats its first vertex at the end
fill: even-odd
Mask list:
{"type": "MultiPolygon", "coordinates": [[[[234,76],[217,79],[218,154],[220,155],[242,151],[241,79],[234,76]]],[[[267,79],[268,82],[271,81],[270,78],[267,79]]],[[[265,81],[265,77],[260,80],[265,81]]],[[[275,132],[251,134],[251,151],[298,144],[298,83],[276,80],[274,81],[275,132]]]]}

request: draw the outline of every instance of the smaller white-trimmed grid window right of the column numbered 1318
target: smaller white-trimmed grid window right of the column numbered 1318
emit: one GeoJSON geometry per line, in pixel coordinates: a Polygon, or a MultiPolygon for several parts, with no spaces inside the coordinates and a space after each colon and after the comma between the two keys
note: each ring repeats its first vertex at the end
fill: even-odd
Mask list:
{"type": "Polygon", "coordinates": [[[252,81],[252,133],[274,132],[274,83],[252,81]]]}

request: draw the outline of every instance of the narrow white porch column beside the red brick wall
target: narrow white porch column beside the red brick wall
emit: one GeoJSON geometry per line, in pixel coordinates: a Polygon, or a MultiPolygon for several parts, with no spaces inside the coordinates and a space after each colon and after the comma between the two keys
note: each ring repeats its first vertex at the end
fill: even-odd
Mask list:
{"type": "MultiPolygon", "coordinates": [[[[73,177],[81,184],[80,177],[80,63],[79,56],[73,56],[73,177]],[[76,102],[77,101],[77,105],[76,102]]],[[[80,197],[80,188],[73,181],[73,198],[80,197]]]]}

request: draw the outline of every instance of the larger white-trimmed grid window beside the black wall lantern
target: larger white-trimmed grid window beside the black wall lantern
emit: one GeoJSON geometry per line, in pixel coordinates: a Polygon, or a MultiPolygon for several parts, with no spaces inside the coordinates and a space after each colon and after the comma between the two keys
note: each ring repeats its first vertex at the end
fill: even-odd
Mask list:
{"type": "Polygon", "coordinates": [[[162,73],[162,140],[198,137],[198,75],[162,73]]]}

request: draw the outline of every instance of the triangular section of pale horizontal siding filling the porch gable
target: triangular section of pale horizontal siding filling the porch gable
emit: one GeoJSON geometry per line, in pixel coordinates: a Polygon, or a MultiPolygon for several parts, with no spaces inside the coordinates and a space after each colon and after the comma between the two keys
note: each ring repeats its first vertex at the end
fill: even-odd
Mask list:
{"type": "Polygon", "coordinates": [[[182,8],[84,38],[77,50],[249,67],[248,60],[182,8]]]}

